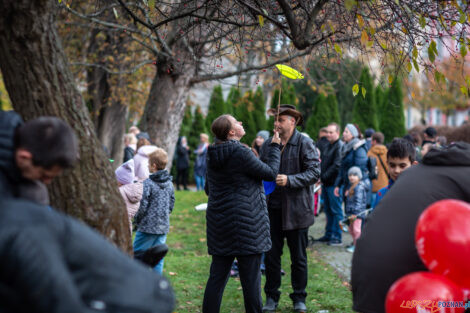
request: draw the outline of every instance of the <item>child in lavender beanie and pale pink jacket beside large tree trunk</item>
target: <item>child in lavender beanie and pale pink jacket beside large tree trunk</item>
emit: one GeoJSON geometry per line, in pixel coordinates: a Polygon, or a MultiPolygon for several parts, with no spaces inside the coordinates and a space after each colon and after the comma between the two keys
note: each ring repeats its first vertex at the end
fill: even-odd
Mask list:
{"type": "Polygon", "coordinates": [[[130,159],[126,163],[119,166],[116,171],[116,180],[119,186],[124,203],[126,204],[127,217],[129,218],[129,227],[132,234],[132,219],[139,209],[140,200],[142,199],[143,184],[142,182],[134,183],[134,160],[130,159]]]}

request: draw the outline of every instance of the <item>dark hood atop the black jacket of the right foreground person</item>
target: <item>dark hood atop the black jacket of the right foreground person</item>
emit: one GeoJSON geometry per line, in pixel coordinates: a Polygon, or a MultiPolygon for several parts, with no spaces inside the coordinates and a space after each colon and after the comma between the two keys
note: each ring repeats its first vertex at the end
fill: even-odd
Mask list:
{"type": "Polygon", "coordinates": [[[470,144],[459,141],[452,143],[445,148],[433,148],[423,157],[423,164],[470,166],[470,144]]]}

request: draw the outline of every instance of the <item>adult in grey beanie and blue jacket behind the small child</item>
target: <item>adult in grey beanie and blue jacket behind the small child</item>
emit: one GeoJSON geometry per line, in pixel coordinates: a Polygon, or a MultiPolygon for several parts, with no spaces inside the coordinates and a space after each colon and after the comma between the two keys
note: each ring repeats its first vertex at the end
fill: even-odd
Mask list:
{"type": "MultiPolygon", "coordinates": [[[[371,189],[371,182],[369,179],[369,171],[367,169],[367,147],[366,141],[360,139],[361,132],[359,128],[354,124],[347,124],[343,132],[343,141],[344,145],[341,148],[341,166],[339,168],[338,176],[335,181],[335,196],[345,197],[344,201],[348,201],[347,192],[350,190],[351,183],[349,180],[349,169],[352,167],[359,168],[361,175],[359,180],[362,181],[365,192],[369,192],[371,189]]],[[[354,189],[353,189],[354,190],[354,189]]],[[[353,192],[354,193],[354,192],[353,192]]],[[[367,204],[367,197],[365,199],[367,204]]],[[[365,206],[364,206],[365,208],[365,206]]],[[[358,222],[359,223],[359,222],[358,222]]],[[[357,223],[356,223],[357,225],[357,223]]],[[[341,241],[330,241],[328,243],[330,246],[340,246],[342,245],[341,241]]]]}

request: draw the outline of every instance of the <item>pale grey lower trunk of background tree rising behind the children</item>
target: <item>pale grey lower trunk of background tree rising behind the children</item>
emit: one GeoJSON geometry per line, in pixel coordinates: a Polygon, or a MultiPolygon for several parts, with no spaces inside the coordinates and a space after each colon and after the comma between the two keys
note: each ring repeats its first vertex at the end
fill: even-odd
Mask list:
{"type": "MultiPolygon", "coordinates": [[[[168,153],[167,169],[171,168],[178,134],[183,121],[186,98],[189,93],[190,76],[175,75],[158,66],[140,120],[140,128],[147,131],[152,141],[168,153]]],[[[185,71],[190,73],[190,70],[185,71]]]]}

